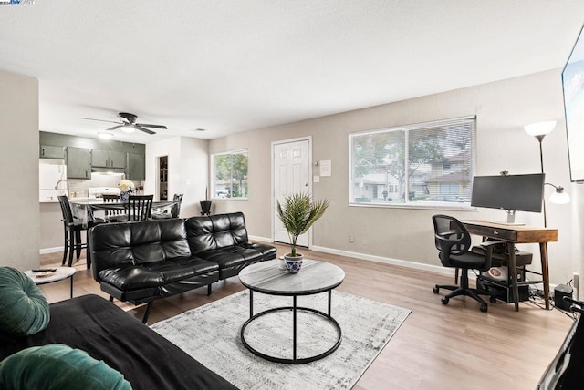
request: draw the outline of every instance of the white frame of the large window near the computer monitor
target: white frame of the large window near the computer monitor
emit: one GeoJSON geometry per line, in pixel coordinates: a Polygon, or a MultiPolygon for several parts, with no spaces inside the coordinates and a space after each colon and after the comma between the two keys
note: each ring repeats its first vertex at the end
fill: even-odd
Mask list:
{"type": "MultiPolygon", "coordinates": [[[[461,122],[461,121],[473,121],[474,124],[471,126],[471,139],[470,139],[470,153],[471,153],[471,158],[470,158],[470,165],[471,165],[471,183],[472,184],[472,178],[476,175],[476,155],[477,155],[477,148],[476,148],[476,138],[477,138],[477,123],[478,120],[476,118],[476,116],[465,116],[465,117],[459,117],[459,118],[448,118],[448,119],[442,119],[442,120],[434,120],[434,121],[429,121],[429,122],[421,122],[421,123],[415,123],[415,124],[411,124],[411,125],[402,125],[402,126],[395,126],[395,127],[389,127],[389,128],[377,128],[377,129],[372,129],[372,130],[363,130],[363,131],[356,131],[356,132],[351,132],[349,133],[349,169],[348,169],[348,205],[349,207],[367,207],[367,208],[388,208],[388,209],[416,209],[416,210],[474,210],[474,208],[470,205],[470,200],[465,201],[463,203],[456,203],[456,202],[450,202],[450,201],[410,201],[408,199],[406,199],[403,203],[391,203],[391,202],[383,202],[383,203],[367,203],[367,202],[357,202],[355,201],[355,197],[354,197],[354,179],[353,179],[353,172],[354,172],[354,167],[353,167],[353,144],[354,144],[354,138],[359,137],[359,136],[366,136],[366,135],[370,135],[370,134],[377,134],[377,133],[383,133],[383,132],[391,132],[391,131],[404,131],[405,132],[405,137],[404,137],[404,142],[407,145],[408,144],[408,135],[409,135],[409,131],[412,130],[421,130],[424,128],[437,128],[437,127],[441,127],[441,126],[448,126],[450,125],[454,125],[457,122],[461,122]]],[[[405,149],[405,153],[404,153],[404,159],[409,158],[409,149],[406,148],[405,149]]],[[[469,184],[469,185],[470,185],[469,184]]],[[[408,179],[408,175],[406,175],[405,180],[404,180],[404,187],[406,189],[406,191],[408,191],[409,189],[409,179],[408,179]]],[[[407,197],[406,197],[407,198],[407,197]]]]}

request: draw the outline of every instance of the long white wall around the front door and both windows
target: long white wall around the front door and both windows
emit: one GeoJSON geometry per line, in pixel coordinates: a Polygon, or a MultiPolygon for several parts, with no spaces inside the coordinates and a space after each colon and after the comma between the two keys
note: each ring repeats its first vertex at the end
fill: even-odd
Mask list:
{"type": "MultiPolygon", "coordinates": [[[[523,126],[557,120],[558,127],[544,140],[547,181],[563,185],[570,194],[582,191],[569,183],[560,72],[553,70],[214,139],[210,143],[210,153],[249,150],[249,200],[216,200],[215,212],[244,211],[250,235],[271,238],[270,143],[312,136],[313,160],[330,159],[333,172],[331,177],[313,183],[316,198],[331,200],[327,213],[315,225],[315,248],[440,269],[431,221],[432,214],[438,210],[349,207],[348,135],[355,131],[468,115],[477,117],[479,175],[498,174],[501,170],[513,174],[539,171],[537,140],[529,137],[523,126]],[[355,237],[352,243],[349,242],[351,235],[355,237]]],[[[579,220],[584,210],[583,197],[579,195],[579,199],[568,206],[547,206],[548,226],[558,227],[559,231],[558,242],[549,244],[552,283],[568,282],[572,272],[582,270],[582,244],[579,242],[584,221],[579,220]]],[[[506,218],[502,210],[447,213],[460,219],[506,218]]],[[[543,226],[541,214],[519,212],[516,218],[528,225],[543,226]]],[[[523,249],[538,254],[536,245],[524,245],[523,249]]],[[[539,268],[537,259],[533,267],[536,270],[539,268]]]]}

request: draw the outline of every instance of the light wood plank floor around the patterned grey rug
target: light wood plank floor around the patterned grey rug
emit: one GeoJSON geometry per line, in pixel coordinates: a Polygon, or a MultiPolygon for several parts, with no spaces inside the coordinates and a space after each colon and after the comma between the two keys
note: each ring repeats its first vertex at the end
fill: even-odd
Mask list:
{"type": "MultiPolygon", "coordinates": [[[[278,255],[285,251],[287,247],[278,246],[278,255]]],[[[565,313],[546,311],[537,303],[520,303],[518,313],[506,303],[489,304],[488,313],[481,313],[478,304],[469,298],[455,298],[443,305],[443,292],[434,294],[433,285],[454,282],[454,277],[304,252],[305,257],[333,262],[346,272],[338,290],[412,310],[354,389],[533,390],[572,323],[565,313]]],[[[41,264],[60,264],[61,256],[42,255],[41,264]]],[[[96,293],[108,297],[92,279],[85,259],[76,268],[75,296],[96,293]]],[[[68,299],[68,282],[43,285],[41,289],[51,303],[68,299]]],[[[242,290],[234,277],[214,283],[211,296],[201,288],[156,301],[149,324],[242,290]]],[[[116,304],[141,319],[144,307],[116,304]]]]}

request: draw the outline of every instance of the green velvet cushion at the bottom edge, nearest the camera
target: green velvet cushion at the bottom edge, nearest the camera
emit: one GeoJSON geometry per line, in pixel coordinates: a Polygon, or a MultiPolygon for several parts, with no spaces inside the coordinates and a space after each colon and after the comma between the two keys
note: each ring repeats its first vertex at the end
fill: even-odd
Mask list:
{"type": "Polygon", "coordinates": [[[34,346],[0,363],[0,388],[130,390],[131,385],[108,364],[64,344],[34,346]]]}

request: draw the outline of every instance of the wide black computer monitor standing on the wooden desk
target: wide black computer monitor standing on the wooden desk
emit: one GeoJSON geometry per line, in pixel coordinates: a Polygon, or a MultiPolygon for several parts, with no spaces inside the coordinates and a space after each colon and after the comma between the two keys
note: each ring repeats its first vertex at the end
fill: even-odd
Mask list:
{"type": "Polygon", "coordinates": [[[515,224],[516,211],[541,212],[545,177],[544,173],[474,176],[471,206],[506,210],[506,223],[515,224]]]}

